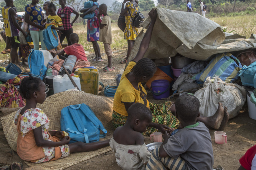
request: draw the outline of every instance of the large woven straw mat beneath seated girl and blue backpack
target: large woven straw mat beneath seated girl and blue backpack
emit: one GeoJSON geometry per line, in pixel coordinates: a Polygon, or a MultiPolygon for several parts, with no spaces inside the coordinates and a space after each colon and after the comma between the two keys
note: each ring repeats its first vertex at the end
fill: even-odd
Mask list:
{"type": "MultiPolygon", "coordinates": [[[[101,138],[100,140],[110,139],[114,132],[111,121],[113,98],[96,96],[93,94],[85,93],[83,91],[65,91],[47,97],[44,103],[38,104],[37,107],[42,109],[48,116],[50,120],[49,130],[60,130],[61,109],[69,105],[81,103],[85,103],[93,110],[95,115],[108,131],[106,137],[101,138]]],[[[14,151],[16,151],[16,141],[18,136],[16,125],[14,124],[15,114],[16,112],[13,112],[1,118],[4,135],[8,141],[9,146],[14,151]]],[[[65,169],[69,166],[93,158],[110,150],[111,148],[107,146],[96,151],[72,153],[70,156],[63,159],[58,159],[56,161],[49,161],[40,164],[33,164],[29,161],[25,162],[29,167],[35,169],[65,169]]]]}

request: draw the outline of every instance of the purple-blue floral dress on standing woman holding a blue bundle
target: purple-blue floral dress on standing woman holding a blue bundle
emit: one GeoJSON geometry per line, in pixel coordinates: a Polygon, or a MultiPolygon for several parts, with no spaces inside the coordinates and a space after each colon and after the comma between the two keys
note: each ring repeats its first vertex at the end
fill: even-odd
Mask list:
{"type": "Polygon", "coordinates": [[[97,5],[97,9],[93,12],[94,18],[88,19],[87,21],[87,41],[98,41],[100,37],[100,26],[99,26],[99,20],[97,18],[99,13],[99,3],[94,2],[93,5],[97,5]]]}

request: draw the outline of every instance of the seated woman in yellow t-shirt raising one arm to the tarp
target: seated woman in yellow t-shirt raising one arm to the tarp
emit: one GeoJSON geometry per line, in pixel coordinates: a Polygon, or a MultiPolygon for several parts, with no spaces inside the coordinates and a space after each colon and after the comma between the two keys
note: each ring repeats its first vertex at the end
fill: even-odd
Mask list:
{"type": "MultiPolygon", "coordinates": [[[[155,63],[147,58],[143,58],[146,53],[156,22],[156,10],[152,9],[148,15],[151,18],[151,23],[141,41],[137,55],[131,60],[127,68],[123,72],[120,84],[117,88],[113,105],[113,126],[116,129],[123,126],[127,120],[127,110],[133,103],[143,103],[147,106],[152,114],[153,120],[149,124],[143,135],[149,135],[152,132],[159,130],[169,134],[173,129],[177,129],[180,125],[179,120],[172,114],[176,112],[174,102],[164,102],[163,104],[150,103],[147,100],[147,93],[141,82],[148,81],[156,72],[155,63]],[[173,129],[171,129],[173,128],[173,129]]],[[[223,130],[227,124],[229,115],[227,109],[223,108],[219,103],[219,108],[211,117],[200,116],[197,121],[204,123],[210,129],[223,130]]]]}

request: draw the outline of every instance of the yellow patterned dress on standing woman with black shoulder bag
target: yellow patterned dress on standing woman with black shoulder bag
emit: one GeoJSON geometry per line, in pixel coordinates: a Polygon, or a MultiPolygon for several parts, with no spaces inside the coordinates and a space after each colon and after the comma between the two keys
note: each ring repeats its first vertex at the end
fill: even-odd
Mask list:
{"type": "Polygon", "coordinates": [[[129,8],[127,11],[127,16],[125,16],[125,30],[124,30],[124,39],[125,40],[136,40],[136,37],[138,36],[139,32],[136,27],[132,25],[133,18],[136,16],[137,11],[139,10],[138,7],[135,7],[132,2],[127,2],[125,7],[129,8]]]}

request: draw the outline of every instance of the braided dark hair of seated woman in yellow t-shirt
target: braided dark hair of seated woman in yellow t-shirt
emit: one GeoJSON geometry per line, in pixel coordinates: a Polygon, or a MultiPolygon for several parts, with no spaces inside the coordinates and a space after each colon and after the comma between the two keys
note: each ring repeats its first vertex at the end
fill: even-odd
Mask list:
{"type": "Polygon", "coordinates": [[[136,65],[131,69],[133,75],[139,79],[143,76],[153,77],[156,72],[156,64],[148,58],[143,58],[139,60],[136,65]]]}

